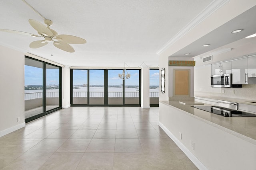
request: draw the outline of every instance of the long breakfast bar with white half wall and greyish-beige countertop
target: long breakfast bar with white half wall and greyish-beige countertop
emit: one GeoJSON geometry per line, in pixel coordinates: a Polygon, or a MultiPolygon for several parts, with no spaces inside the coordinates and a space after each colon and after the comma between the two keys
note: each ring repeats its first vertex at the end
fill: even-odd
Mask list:
{"type": "Polygon", "coordinates": [[[159,107],[160,127],[190,160],[199,169],[255,170],[256,117],[224,117],[192,105],[160,101],[159,107]]]}

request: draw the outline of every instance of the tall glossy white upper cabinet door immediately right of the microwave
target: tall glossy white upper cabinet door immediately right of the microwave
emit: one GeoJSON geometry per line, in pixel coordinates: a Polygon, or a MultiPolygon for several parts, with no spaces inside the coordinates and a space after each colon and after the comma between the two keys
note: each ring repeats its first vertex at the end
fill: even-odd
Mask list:
{"type": "Polygon", "coordinates": [[[232,61],[232,84],[248,84],[248,60],[232,61]]]}

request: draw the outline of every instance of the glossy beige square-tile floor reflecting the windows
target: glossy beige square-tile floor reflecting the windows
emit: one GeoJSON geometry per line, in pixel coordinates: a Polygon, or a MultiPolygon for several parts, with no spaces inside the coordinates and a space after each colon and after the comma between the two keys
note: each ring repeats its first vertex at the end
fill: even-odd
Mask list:
{"type": "Polygon", "coordinates": [[[70,107],[0,137],[3,170],[196,170],[158,107],[70,107]]]}

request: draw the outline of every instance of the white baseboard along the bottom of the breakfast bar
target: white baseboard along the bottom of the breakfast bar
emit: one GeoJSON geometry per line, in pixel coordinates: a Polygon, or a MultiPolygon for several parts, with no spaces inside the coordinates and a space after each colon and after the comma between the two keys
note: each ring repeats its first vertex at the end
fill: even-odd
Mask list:
{"type": "Polygon", "coordinates": [[[176,143],[176,145],[188,156],[188,158],[196,165],[200,170],[208,170],[194,154],[192,154],[162,123],[159,122],[159,126],[164,130],[164,132],[176,143]]]}

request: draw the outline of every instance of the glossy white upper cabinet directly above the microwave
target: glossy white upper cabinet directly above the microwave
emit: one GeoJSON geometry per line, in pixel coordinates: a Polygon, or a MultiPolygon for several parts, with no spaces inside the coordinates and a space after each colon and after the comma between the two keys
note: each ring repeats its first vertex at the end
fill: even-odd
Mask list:
{"type": "Polygon", "coordinates": [[[231,70],[231,61],[219,64],[212,64],[212,75],[230,74],[232,73],[231,70]]]}

